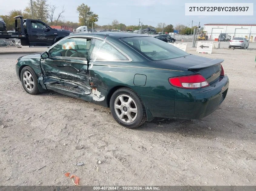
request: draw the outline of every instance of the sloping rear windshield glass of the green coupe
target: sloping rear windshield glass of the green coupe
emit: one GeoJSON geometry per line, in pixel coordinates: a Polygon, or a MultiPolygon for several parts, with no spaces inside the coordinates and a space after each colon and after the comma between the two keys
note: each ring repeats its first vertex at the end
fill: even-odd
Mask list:
{"type": "Polygon", "coordinates": [[[120,40],[150,60],[173,59],[189,55],[183,50],[154,37],[128,37],[120,38],[120,40]]]}

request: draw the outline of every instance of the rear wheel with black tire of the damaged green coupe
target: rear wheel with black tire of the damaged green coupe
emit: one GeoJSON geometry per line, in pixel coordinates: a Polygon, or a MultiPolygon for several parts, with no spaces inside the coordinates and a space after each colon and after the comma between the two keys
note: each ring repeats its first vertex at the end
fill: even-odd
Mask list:
{"type": "Polygon", "coordinates": [[[133,129],[146,121],[144,104],[138,94],[129,88],[116,90],[110,98],[113,118],[122,126],[133,129]]]}

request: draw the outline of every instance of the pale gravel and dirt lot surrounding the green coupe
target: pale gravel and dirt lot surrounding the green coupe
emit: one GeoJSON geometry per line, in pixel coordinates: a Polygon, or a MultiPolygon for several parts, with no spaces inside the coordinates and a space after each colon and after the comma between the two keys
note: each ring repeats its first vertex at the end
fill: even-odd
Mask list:
{"type": "Polygon", "coordinates": [[[71,185],[65,172],[81,185],[256,185],[255,51],[188,47],[225,59],[225,101],[200,120],[155,119],[132,130],[108,108],[27,94],[15,61],[44,50],[0,49],[0,185],[71,185]]]}

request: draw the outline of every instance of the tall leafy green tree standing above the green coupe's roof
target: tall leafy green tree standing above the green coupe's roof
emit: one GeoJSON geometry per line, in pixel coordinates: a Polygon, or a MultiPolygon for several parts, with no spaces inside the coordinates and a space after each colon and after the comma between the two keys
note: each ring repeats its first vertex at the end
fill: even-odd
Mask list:
{"type": "Polygon", "coordinates": [[[79,23],[83,25],[91,25],[98,22],[98,14],[94,14],[88,5],[82,3],[76,9],[79,13],[79,23]],[[89,23],[88,23],[89,22],[89,23]]]}

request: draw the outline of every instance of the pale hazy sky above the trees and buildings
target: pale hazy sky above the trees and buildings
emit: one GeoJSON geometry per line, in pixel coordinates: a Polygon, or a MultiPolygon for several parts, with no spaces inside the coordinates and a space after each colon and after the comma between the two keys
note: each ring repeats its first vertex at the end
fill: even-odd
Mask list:
{"type": "MultiPolygon", "coordinates": [[[[12,9],[24,9],[29,0],[17,1],[8,0],[1,3],[0,15],[8,14],[12,9]]],[[[254,16],[185,16],[185,2],[186,3],[203,3],[205,1],[172,1],[172,0],[48,0],[49,4],[57,5],[61,8],[65,6],[65,20],[78,22],[78,13],[76,8],[82,3],[91,7],[91,10],[99,15],[99,25],[111,24],[114,19],[126,25],[138,25],[138,18],[143,24],[157,26],[159,22],[165,24],[178,23],[188,26],[193,20],[193,25],[201,26],[207,23],[231,23],[231,24],[255,24],[256,23],[256,2],[255,0],[230,1],[215,0],[215,3],[254,3],[254,16]]]]}

